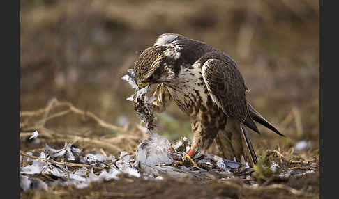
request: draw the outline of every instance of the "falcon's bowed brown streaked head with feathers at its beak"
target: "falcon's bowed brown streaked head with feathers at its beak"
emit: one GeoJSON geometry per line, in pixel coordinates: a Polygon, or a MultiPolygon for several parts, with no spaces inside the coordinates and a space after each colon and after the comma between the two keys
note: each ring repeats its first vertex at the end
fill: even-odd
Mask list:
{"type": "Polygon", "coordinates": [[[139,88],[153,83],[171,83],[176,78],[176,60],[180,52],[175,47],[152,46],[135,61],[135,81],[139,88]]]}

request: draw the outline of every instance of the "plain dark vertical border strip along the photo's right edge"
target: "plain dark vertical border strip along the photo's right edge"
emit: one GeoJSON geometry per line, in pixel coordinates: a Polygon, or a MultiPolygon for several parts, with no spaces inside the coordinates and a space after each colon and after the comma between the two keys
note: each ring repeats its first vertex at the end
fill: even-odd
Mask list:
{"type": "Polygon", "coordinates": [[[320,198],[338,198],[338,6],[336,1],[319,2],[319,104],[320,104],[320,198]],[[332,4],[331,4],[332,3],[332,4]],[[326,6],[326,10],[324,8],[326,6]],[[327,27],[327,29],[325,29],[327,27]],[[325,31],[327,30],[327,31],[325,31]],[[327,93],[327,96],[326,96],[327,93]],[[325,144],[326,140],[326,144],[325,144]],[[326,151],[325,151],[326,149],[326,151]],[[324,159],[329,164],[324,168],[324,159]],[[324,172],[329,176],[324,175],[324,172]],[[333,181],[330,180],[330,176],[333,181]]]}

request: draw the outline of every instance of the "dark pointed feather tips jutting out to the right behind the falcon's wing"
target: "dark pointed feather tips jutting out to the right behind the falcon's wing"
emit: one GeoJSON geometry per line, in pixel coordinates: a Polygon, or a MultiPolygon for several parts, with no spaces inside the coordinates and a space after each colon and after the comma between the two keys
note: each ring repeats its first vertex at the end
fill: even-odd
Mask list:
{"type": "Polygon", "coordinates": [[[278,129],[276,129],[276,127],[274,127],[269,121],[267,121],[264,117],[262,117],[262,115],[260,115],[260,113],[258,113],[258,111],[256,111],[252,105],[250,105],[250,103],[248,103],[248,109],[250,111],[250,115],[247,116],[245,122],[243,122],[244,125],[246,125],[247,127],[249,127],[250,129],[253,129],[253,131],[257,132],[258,134],[260,134],[257,126],[255,125],[255,122],[253,122],[253,120],[255,120],[256,122],[259,122],[259,124],[264,125],[264,127],[271,129],[273,132],[275,132],[276,134],[280,135],[280,136],[284,136],[283,134],[281,134],[278,129]]]}

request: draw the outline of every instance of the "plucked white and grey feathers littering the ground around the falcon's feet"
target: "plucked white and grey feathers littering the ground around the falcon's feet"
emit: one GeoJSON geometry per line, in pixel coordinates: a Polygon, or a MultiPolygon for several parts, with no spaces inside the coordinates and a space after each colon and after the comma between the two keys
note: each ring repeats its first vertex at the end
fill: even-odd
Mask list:
{"type": "MultiPolygon", "coordinates": [[[[190,145],[191,143],[186,137],[182,137],[172,144],[165,136],[150,133],[138,145],[135,154],[121,151],[119,157],[116,158],[112,154],[103,155],[99,150],[85,154],[82,149],[75,148],[70,143],[65,143],[63,148],[59,150],[46,144],[45,151],[35,155],[40,159],[22,156],[21,159],[30,161],[25,161],[28,165],[20,168],[20,187],[22,191],[47,189],[48,187],[53,189],[52,187],[68,185],[84,189],[92,182],[119,180],[122,173],[127,174],[128,177],[144,177],[145,180],[163,180],[164,175],[211,179],[208,173],[209,170],[214,170],[216,175],[220,175],[220,179],[227,179],[229,174],[236,172],[239,175],[239,172],[249,167],[247,162],[242,165],[213,154],[199,153],[195,156],[198,168],[186,164],[177,164],[176,161],[182,161],[190,145]],[[60,157],[62,161],[82,163],[84,167],[72,166],[71,164],[52,164],[52,161],[50,161],[60,161],[60,157]],[[89,166],[100,166],[103,169],[96,170],[96,173],[94,173],[94,168],[89,168],[89,166]],[[42,175],[48,175],[58,180],[43,182],[42,179],[45,179],[45,177],[37,178],[42,175]]],[[[27,154],[33,155],[31,152],[27,152],[27,154]]],[[[242,160],[244,161],[243,158],[242,160]]],[[[263,166],[262,169],[276,173],[280,167],[275,161],[272,161],[269,167],[263,166]]],[[[314,170],[291,170],[279,173],[279,176],[304,175],[311,172],[314,172],[314,170]]],[[[251,175],[246,173],[241,175],[255,184],[251,175]]]]}

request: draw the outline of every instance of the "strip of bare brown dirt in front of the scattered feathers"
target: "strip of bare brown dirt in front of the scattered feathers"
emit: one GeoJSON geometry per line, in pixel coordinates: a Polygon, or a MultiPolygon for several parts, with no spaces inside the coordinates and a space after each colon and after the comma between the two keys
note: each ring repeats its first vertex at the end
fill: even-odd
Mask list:
{"type": "Polygon", "coordinates": [[[121,179],[107,183],[92,184],[89,189],[71,189],[45,193],[29,191],[22,198],[319,198],[319,173],[282,180],[283,186],[265,186],[253,189],[239,181],[197,182],[169,178],[162,181],[121,179]],[[137,185],[137,186],[136,186],[137,185]],[[307,189],[308,193],[290,191],[307,189]]]}

